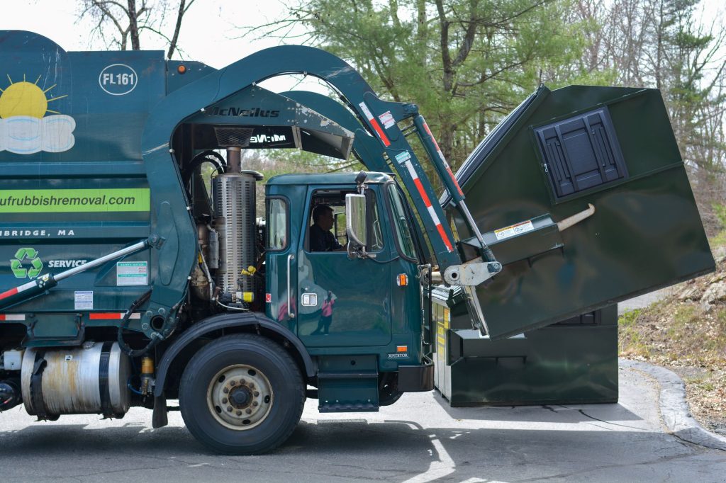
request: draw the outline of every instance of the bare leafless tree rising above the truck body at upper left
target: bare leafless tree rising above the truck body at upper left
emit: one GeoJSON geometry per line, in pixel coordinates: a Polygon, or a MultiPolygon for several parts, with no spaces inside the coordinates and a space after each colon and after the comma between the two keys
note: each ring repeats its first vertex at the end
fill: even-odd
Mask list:
{"type": "Polygon", "coordinates": [[[171,59],[178,51],[179,32],[184,15],[196,0],[83,0],[78,19],[90,17],[94,22],[91,35],[99,36],[110,48],[141,49],[140,37],[144,30],[160,36],[168,44],[166,57],[171,59]],[[170,12],[176,8],[176,22],[171,36],[163,32],[170,12]],[[113,33],[109,33],[109,30],[113,33]]]}

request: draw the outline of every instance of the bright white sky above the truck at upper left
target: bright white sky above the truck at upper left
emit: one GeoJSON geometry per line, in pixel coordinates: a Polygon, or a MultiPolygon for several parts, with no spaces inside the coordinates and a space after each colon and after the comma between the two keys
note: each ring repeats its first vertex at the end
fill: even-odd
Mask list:
{"type": "MultiPolygon", "coordinates": [[[[176,1],[171,1],[175,4],[176,1]]],[[[0,0],[0,30],[30,30],[46,36],[66,51],[104,50],[100,41],[89,44],[92,22],[78,22],[77,0],[0,0]]],[[[184,59],[221,68],[255,51],[279,44],[277,39],[235,39],[237,25],[261,25],[285,13],[280,0],[196,0],[181,27],[179,46],[184,59]]],[[[176,12],[169,20],[176,20],[176,12]],[[173,18],[172,18],[173,17],[173,18]]],[[[171,25],[165,30],[171,36],[171,25]]],[[[158,36],[142,38],[142,49],[164,49],[158,36]]],[[[175,56],[175,58],[179,58],[175,56]]]]}

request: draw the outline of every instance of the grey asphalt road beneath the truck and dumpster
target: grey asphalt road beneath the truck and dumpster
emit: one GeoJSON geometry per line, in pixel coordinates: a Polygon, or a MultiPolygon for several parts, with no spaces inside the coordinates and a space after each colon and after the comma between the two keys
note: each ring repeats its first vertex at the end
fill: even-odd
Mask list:
{"type": "Polygon", "coordinates": [[[380,413],[319,414],[306,405],[290,440],[261,456],[219,456],[172,413],[122,420],[0,414],[0,481],[25,482],[723,482],[726,452],[666,434],[657,387],[621,368],[619,404],[449,408],[409,394],[380,413]]]}

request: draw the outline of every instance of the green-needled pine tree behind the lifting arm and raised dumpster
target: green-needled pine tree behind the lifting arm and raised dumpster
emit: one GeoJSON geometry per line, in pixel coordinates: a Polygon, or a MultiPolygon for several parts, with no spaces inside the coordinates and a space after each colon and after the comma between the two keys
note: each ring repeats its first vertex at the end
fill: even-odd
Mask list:
{"type": "MultiPolygon", "coordinates": [[[[456,168],[543,80],[582,53],[571,1],[311,0],[268,33],[304,25],[307,43],[351,62],[383,97],[415,102],[456,168]]],[[[258,33],[258,30],[252,30],[258,33]]],[[[558,80],[566,75],[558,72],[558,80]]],[[[587,73],[576,72],[586,80],[587,73]]],[[[598,75],[593,76],[597,78],[598,75]]],[[[605,76],[603,82],[605,82],[605,76]]]]}

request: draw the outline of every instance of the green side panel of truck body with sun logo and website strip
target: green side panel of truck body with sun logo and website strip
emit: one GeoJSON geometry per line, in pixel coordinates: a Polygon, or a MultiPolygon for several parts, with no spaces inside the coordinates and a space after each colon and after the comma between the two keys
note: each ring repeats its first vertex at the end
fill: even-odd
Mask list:
{"type": "MultiPolygon", "coordinates": [[[[0,77],[0,286],[147,238],[153,194],[139,139],[166,95],[163,52],[66,52],[34,33],[1,32],[0,77]]],[[[78,335],[79,321],[110,323],[89,313],[129,307],[149,278],[124,285],[118,261],[152,266],[145,250],[7,310],[32,327],[26,344],[53,344],[53,337],[62,344],[78,335]]]]}

